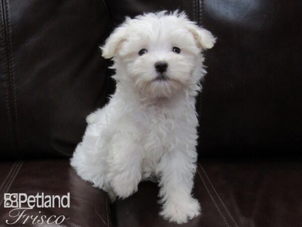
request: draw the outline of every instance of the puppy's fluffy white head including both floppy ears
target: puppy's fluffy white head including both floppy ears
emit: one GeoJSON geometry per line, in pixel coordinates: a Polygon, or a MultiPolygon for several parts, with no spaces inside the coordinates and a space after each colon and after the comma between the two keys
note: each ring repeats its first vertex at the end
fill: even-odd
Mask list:
{"type": "Polygon", "coordinates": [[[121,83],[150,97],[171,97],[198,83],[202,76],[201,50],[215,38],[197,27],[185,14],[145,14],[117,28],[102,47],[114,58],[121,83]],[[199,70],[198,70],[199,69],[199,70]]]}

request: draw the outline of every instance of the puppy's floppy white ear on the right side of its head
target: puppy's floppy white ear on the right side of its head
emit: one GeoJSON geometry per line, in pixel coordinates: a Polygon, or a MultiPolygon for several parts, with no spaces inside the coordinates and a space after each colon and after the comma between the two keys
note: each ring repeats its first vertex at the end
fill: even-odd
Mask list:
{"type": "Polygon", "coordinates": [[[216,38],[212,33],[204,28],[198,27],[196,24],[190,23],[187,26],[189,32],[193,34],[196,45],[202,49],[210,49],[214,46],[216,38]]]}

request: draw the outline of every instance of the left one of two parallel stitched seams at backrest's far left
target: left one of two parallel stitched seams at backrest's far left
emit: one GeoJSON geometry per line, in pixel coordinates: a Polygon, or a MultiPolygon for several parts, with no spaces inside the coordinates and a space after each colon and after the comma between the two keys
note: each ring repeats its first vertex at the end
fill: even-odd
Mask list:
{"type": "Polygon", "coordinates": [[[7,59],[7,34],[6,34],[6,19],[5,19],[5,9],[4,9],[4,2],[1,1],[1,16],[2,16],[2,33],[4,34],[4,47],[3,47],[3,55],[5,56],[4,58],[6,59],[6,63],[4,63],[4,77],[6,80],[6,103],[7,103],[7,108],[8,108],[8,117],[9,117],[9,126],[10,126],[10,133],[11,133],[11,139],[12,139],[12,144],[13,144],[13,149],[14,152],[16,152],[16,144],[14,141],[14,133],[13,133],[13,121],[12,121],[12,116],[11,116],[11,108],[10,108],[10,79],[8,75],[8,59],[7,59]]]}

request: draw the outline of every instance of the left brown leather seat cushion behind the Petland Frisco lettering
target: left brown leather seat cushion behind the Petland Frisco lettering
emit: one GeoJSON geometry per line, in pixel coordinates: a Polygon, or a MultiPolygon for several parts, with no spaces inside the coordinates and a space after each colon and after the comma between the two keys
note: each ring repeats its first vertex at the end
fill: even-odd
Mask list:
{"type": "MultiPolygon", "coordinates": [[[[35,207],[26,214],[46,215],[47,218],[52,215],[69,217],[59,225],[44,223],[38,226],[112,226],[107,194],[78,177],[71,169],[69,160],[2,162],[0,173],[0,226],[12,226],[6,225],[6,220],[10,223],[16,221],[15,217],[9,217],[13,208],[4,208],[4,193],[26,193],[29,196],[37,193],[66,195],[68,192],[70,208],[35,207]]],[[[31,221],[29,219],[25,224],[19,221],[13,226],[35,226],[31,221]]]]}

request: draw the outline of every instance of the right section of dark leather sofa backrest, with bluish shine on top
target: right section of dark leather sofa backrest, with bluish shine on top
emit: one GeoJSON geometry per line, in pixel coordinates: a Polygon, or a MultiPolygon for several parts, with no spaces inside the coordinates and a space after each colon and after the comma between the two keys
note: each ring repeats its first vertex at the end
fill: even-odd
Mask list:
{"type": "Polygon", "coordinates": [[[302,3],[204,1],[207,52],[199,102],[205,156],[295,155],[302,150],[302,3]]]}

